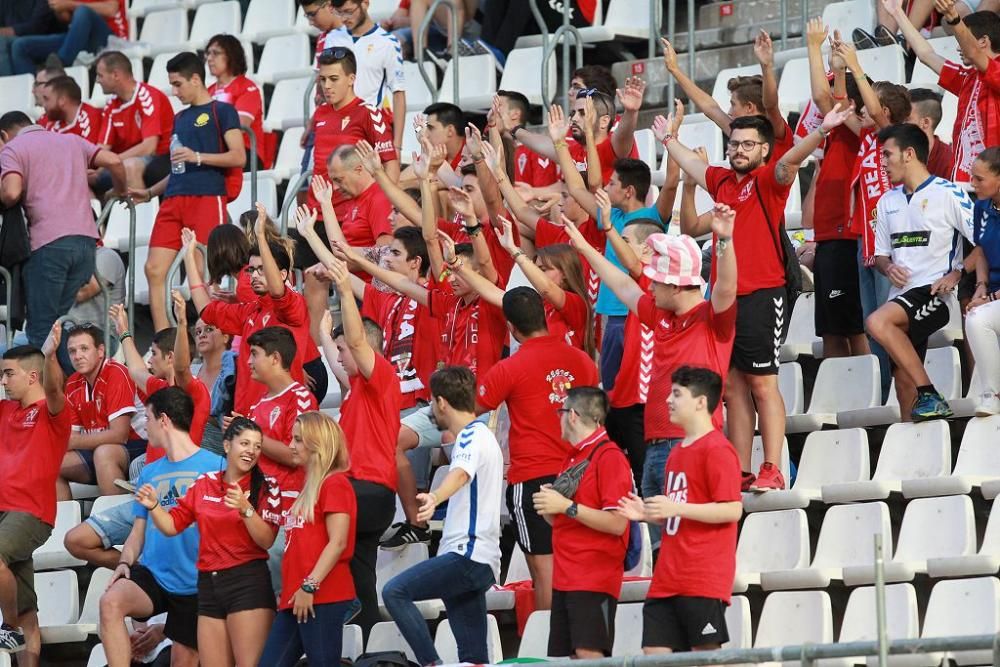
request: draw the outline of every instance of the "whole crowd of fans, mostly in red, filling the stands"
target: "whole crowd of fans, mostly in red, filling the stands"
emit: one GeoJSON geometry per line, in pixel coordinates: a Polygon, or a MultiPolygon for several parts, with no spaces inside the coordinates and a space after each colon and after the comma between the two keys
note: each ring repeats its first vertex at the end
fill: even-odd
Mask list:
{"type": "MultiPolygon", "coordinates": [[[[25,339],[3,355],[0,402],[0,651],[20,664],[40,653],[31,555],[72,482],[134,494],[65,540],[114,571],[100,601],[112,667],[164,637],[174,665],[294,665],[303,654],[339,664],[343,625],[367,634],[381,618],[379,548],[429,543],[445,502],[436,556],[381,595],[421,664],[440,657],[415,603],[438,598],[460,660],[489,660],[501,502],[534,606],[552,610],[550,655],[610,654],[640,521],[658,554],[644,650],[725,643],[741,491],[786,487],[778,357],[800,269],[783,219],[813,155],[805,208],[824,355],[875,352],[902,419],[949,417],[922,360],[958,292],[983,385],[977,413],[1000,412],[995,12],[937,0],[956,63],[934,53],[901,0],[881,2],[959,98],[950,148],[934,135],[940,97],[871,81],[855,47],[821,21],[806,30],[812,99],[795,128],[779,112],[766,33],[755,44],[761,75],[730,82],[728,110],[664,40],[667,70],[727,136],[729,166],[678,140],[678,102],[652,124],[669,158],[654,197],[634,141],[642,80],[618,87],[604,68],[576,70],[570,114],[553,106],[547,131],[525,128],[518,91],[499,91],[482,127],[436,103],[407,128],[399,45],[367,2],[300,2],[324,31],[319,105],[303,139],[315,175],[285,236],[260,204],[227,224],[242,168],[271,160],[243,137],[246,128],[268,143],[232,36],[213,37],[204,57],[169,61],[186,105],[176,115],[128,58],[105,51],[95,64],[112,96],[103,111],[49,63],[36,81],[45,116],[0,117],[0,200],[7,213],[23,210],[26,246],[25,339]],[[421,150],[402,167],[410,131],[421,150]],[[702,215],[698,187],[716,202],[702,215]],[[145,356],[92,193],[160,198],[145,356]],[[189,300],[165,288],[178,253],[189,300]],[[99,281],[119,290],[112,303],[99,281]],[[124,363],[100,328],[109,309],[124,363]],[[327,367],[342,396],[336,418],[318,409],[327,367]],[[490,426],[502,406],[509,465],[490,426]],[[753,470],[758,428],[764,462],[753,470]],[[441,446],[450,465],[429,490],[426,454],[441,446]],[[390,525],[397,496],[406,519],[390,525]],[[163,614],[155,631],[130,636],[126,618],[163,614]]],[[[58,15],[62,5],[50,4],[58,15]]],[[[34,70],[43,52],[72,62],[82,26],[88,39],[107,37],[89,16],[113,23],[105,4],[116,3],[73,9],[58,45],[15,41],[15,67],[28,58],[34,70]]]]}

